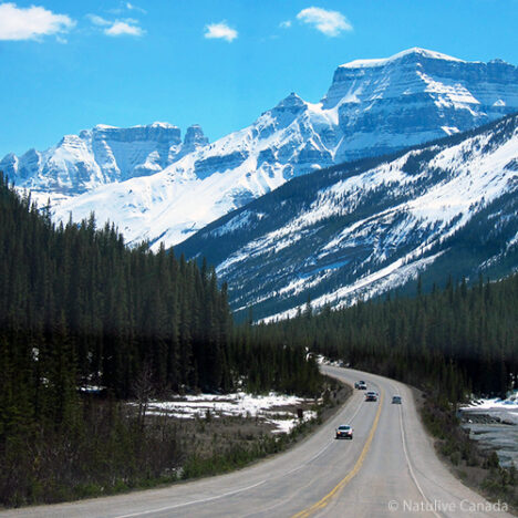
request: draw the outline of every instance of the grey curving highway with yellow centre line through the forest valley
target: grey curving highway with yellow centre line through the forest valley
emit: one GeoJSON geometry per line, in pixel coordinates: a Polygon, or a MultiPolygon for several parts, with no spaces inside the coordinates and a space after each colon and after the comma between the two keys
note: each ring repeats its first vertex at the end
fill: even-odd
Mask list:
{"type": "Polygon", "coordinates": [[[323,366],[346,383],[363,379],[379,402],[354,391],[336,415],[287,453],[251,467],[167,488],[0,512],[0,518],[163,517],[509,517],[455,478],[435,455],[412,391],[386,377],[323,366]],[[391,404],[392,395],[403,397],[391,404]],[[334,428],[352,424],[353,441],[334,428]]]}

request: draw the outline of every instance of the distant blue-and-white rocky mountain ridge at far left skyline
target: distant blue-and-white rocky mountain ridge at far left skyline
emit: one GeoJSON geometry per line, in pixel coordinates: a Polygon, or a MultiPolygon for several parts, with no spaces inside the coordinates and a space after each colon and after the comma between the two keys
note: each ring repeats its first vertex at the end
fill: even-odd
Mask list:
{"type": "Polygon", "coordinates": [[[75,196],[99,186],[149,176],[208,143],[198,125],[180,130],[167,123],[120,128],[100,124],[65,135],[46,149],[7,155],[0,168],[20,187],[75,196]]]}

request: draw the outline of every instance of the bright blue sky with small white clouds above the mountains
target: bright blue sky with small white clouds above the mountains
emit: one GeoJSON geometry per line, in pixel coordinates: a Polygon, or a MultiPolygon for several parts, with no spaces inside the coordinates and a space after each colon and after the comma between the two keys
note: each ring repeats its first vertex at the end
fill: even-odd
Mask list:
{"type": "Polygon", "coordinates": [[[518,0],[0,0],[0,157],[100,123],[214,141],[411,46],[518,64],[517,20],[518,0]]]}

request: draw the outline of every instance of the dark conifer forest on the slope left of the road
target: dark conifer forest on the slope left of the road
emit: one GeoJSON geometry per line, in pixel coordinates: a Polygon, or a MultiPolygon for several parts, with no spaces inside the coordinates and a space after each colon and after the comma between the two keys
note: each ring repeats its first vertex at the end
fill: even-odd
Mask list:
{"type": "Polygon", "coordinates": [[[236,331],[205,261],[128,248],[93,216],[55,225],[3,176],[0,204],[0,408],[22,397],[34,418],[60,421],[79,386],[128,398],[144,373],[156,394],[238,383],[307,392],[299,369],[319,380],[299,349],[273,354],[236,331]]]}

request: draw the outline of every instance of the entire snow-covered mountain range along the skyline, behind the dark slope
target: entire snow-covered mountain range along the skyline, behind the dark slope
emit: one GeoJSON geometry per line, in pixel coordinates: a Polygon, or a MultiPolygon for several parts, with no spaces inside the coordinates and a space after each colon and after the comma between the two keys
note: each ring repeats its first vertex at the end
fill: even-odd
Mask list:
{"type": "Polygon", "coordinates": [[[0,168],[42,203],[50,197],[58,218],[72,214],[80,220],[95,211],[128,242],[169,246],[299,175],[466,131],[516,110],[516,66],[411,49],[341,65],[320,102],[292,93],[211,144],[199,128],[189,130],[182,144],[174,126],[100,126],[44,153],[9,155],[0,168]],[[126,132],[138,137],[115,137],[126,132]]]}

